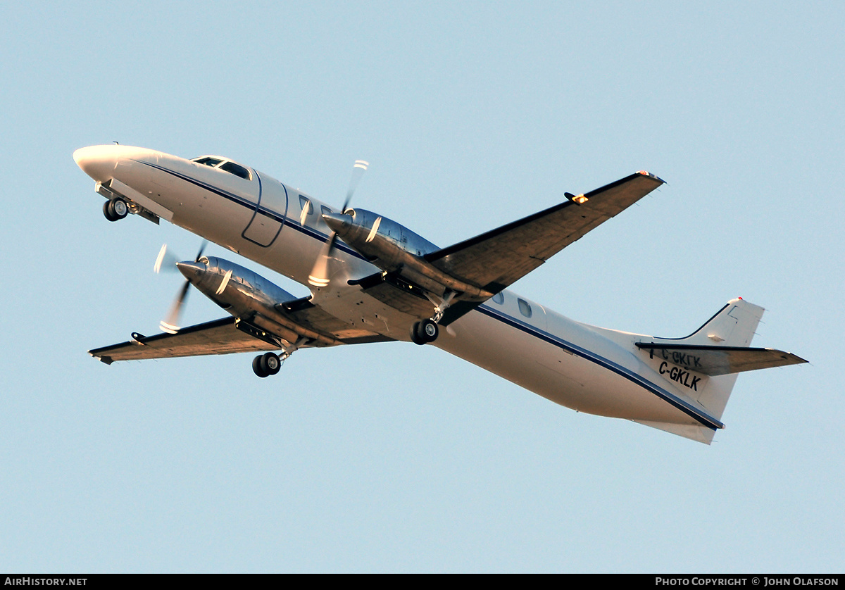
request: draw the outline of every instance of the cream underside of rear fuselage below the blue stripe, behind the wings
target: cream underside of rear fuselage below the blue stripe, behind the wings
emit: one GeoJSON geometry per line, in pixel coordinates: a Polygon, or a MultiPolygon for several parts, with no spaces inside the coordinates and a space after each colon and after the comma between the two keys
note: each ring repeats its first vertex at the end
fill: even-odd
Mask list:
{"type": "MultiPolygon", "coordinates": [[[[603,366],[600,360],[567,352],[559,344],[483,312],[466,314],[450,326],[450,332],[455,336],[443,334],[435,346],[578,412],[695,423],[689,415],[624,374],[603,366]],[[507,342],[507,346],[492,345],[496,342],[507,342]]],[[[610,359],[604,361],[612,363],[610,359]]]]}

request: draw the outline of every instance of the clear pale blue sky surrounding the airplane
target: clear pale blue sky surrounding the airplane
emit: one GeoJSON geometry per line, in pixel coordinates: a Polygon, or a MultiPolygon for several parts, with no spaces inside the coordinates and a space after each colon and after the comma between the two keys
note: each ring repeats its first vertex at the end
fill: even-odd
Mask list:
{"type": "MultiPolygon", "coordinates": [[[[842,571],[842,3],[18,3],[0,22],[3,571],[842,571]],[[76,148],[231,156],[449,245],[668,185],[515,284],[755,345],[711,446],[412,344],[117,363],[179,287],[76,148]]],[[[211,246],[209,254],[224,254],[211,246]]],[[[254,270],[253,263],[244,263],[254,270]]],[[[264,272],[281,287],[306,290],[264,272]]],[[[220,316],[194,292],[186,321],[220,316]]]]}

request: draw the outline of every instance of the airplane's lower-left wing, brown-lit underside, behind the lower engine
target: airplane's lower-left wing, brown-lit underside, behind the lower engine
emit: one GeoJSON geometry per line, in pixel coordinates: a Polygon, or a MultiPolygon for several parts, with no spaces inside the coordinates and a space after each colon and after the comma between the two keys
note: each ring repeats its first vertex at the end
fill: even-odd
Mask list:
{"type": "Polygon", "coordinates": [[[183,328],[176,334],[142,336],[133,333],[132,340],[88,351],[103,363],[146,358],[197,357],[232,352],[275,351],[295,342],[297,348],[363,344],[392,341],[375,332],[361,331],[344,324],[308,298],[276,306],[287,320],[278,325],[279,334],[269,333],[253,321],[221,318],[183,328]]]}

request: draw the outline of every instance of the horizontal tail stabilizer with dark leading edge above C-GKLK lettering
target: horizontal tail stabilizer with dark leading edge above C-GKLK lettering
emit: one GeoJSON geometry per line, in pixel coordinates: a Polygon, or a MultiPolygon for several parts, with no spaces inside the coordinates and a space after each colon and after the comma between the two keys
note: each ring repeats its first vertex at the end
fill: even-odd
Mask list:
{"type": "Polygon", "coordinates": [[[702,347],[658,342],[635,344],[636,347],[648,351],[651,358],[662,358],[684,369],[711,377],[807,362],[792,352],[774,348],[702,347]]]}

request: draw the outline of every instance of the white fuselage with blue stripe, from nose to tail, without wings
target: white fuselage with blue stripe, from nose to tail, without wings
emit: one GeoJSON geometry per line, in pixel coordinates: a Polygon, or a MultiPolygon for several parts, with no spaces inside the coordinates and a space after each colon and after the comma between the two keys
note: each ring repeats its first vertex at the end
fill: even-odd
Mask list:
{"type": "MultiPolygon", "coordinates": [[[[156,215],[308,287],[308,273],[330,233],[320,216],[328,205],[255,170],[251,178],[239,178],[155,150],[94,146],[74,158],[95,180],[113,178],[131,188],[126,196],[156,215]],[[308,203],[311,209],[303,213],[308,203]]],[[[408,341],[419,318],[347,285],[379,269],[344,243],[335,259],[330,287],[309,287],[313,303],[350,325],[408,341]]],[[[706,423],[706,411],[695,402],[704,382],[669,379],[665,362],[633,346],[641,336],[592,328],[514,292],[502,294],[504,300],[490,299],[441,330],[434,346],[580,412],[706,423]]]]}

